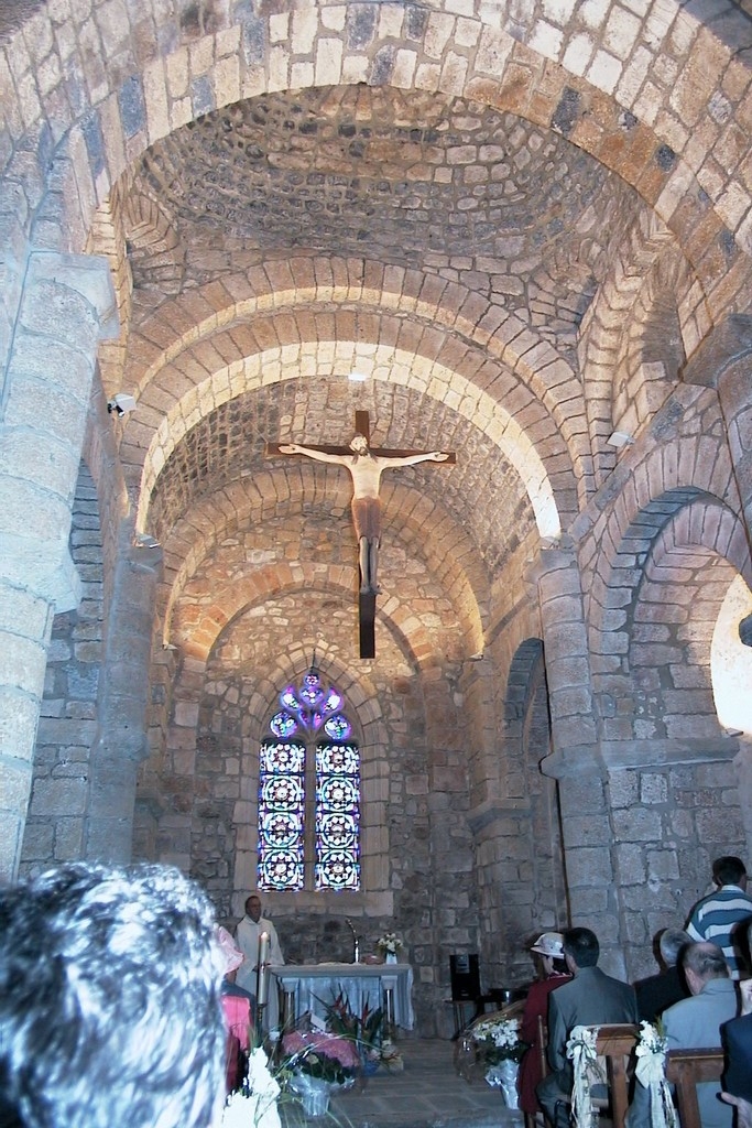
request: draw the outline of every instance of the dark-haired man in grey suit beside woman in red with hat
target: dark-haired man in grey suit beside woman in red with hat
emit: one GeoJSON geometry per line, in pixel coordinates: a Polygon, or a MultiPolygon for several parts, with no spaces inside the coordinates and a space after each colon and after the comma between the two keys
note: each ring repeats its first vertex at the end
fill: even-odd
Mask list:
{"type": "Polygon", "coordinates": [[[563,934],[561,946],[574,978],[549,995],[548,1060],[552,1072],[536,1090],[540,1107],[556,1128],[569,1122],[572,1063],[566,1057],[566,1045],[573,1029],[607,1022],[637,1022],[634,987],[607,976],[598,967],[600,945],[595,933],[590,928],[568,928],[563,934]]]}

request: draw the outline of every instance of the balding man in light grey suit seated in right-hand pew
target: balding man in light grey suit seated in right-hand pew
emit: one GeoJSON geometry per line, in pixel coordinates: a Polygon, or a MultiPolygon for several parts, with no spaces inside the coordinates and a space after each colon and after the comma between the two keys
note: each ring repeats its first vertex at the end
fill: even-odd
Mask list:
{"type": "MultiPolygon", "coordinates": [[[[717,944],[690,944],[682,953],[682,968],[691,997],[663,1012],[663,1029],[670,1050],[720,1046],[720,1026],[736,1014],[736,989],[717,944]]],[[[731,1128],[732,1110],[717,1099],[718,1084],[697,1086],[702,1128],[731,1128]]]]}

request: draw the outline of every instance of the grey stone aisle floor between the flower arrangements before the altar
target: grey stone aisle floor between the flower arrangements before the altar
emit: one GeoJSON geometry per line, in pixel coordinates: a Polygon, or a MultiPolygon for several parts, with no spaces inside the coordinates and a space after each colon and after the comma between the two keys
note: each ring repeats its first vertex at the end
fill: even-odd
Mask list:
{"type": "Polygon", "coordinates": [[[331,1098],[326,1116],[307,1118],[297,1099],[280,1102],[283,1128],[521,1128],[522,1113],[506,1109],[498,1090],[465,1081],[454,1066],[455,1042],[400,1042],[401,1073],[380,1069],[331,1098]]]}

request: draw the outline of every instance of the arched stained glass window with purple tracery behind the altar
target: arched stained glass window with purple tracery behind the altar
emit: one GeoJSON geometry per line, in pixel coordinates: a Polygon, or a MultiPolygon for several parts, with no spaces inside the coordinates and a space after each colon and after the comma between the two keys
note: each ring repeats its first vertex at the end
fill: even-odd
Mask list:
{"type": "Polygon", "coordinates": [[[342,704],[315,669],[280,694],[259,759],[260,889],[360,889],[360,751],[342,704]]]}

